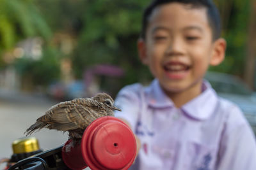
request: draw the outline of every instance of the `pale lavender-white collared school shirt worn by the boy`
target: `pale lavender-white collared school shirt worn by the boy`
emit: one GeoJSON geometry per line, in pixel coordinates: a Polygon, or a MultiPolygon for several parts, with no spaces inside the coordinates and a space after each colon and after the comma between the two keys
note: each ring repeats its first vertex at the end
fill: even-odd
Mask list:
{"type": "Polygon", "coordinates": [[[157,80],[124,87],[115,116],[140,138],[140,170],[255,170],[256,145],[241,110],[216,95],[207,81],[200,96],[175,108],[157,80]]]}

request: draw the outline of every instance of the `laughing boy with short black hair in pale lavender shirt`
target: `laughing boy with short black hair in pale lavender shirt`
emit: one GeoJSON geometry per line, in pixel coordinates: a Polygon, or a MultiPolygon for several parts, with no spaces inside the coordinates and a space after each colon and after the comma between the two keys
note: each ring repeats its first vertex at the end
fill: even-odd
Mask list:
{"type": "Polygon", "coordinates": [[[116,97],[116,117],[139,144],[137,169],[256,169],[255,138],[243,113],[203,80],[225,48],[211,0],[158,0],[145,10],[138,51],[156,79],[116,97]]]}

